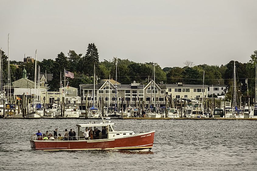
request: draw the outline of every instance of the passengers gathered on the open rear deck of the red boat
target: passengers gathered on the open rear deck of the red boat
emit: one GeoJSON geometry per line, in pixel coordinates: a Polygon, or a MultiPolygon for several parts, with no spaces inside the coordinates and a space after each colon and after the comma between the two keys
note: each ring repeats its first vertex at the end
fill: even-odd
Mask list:
{"type": "Polygon", "coordinates": [[[54,135],[51,133],[48,133],[48,131],[45,134],[42,134],[40,130],[35,134],[37,136],[37,140],[77,140],[76,139],[76,132],[71,131],[68,132],[67,129],[65,129],[64,137],[61,136],[61,133],[59,133],[57,136],[58,129],[56,128],[54,130],[54,135]]]}

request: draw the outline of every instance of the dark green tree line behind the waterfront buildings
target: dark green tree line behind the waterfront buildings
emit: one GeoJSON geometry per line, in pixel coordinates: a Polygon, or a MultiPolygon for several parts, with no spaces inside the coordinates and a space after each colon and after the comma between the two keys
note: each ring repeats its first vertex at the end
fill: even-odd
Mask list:
{"type": "MultiPolygon", "coordinates": [[[[3,80],[7,83],[7,56],[2,51],[3,59],[3,80]]],[[[22,70],[25,67],[28,79],[34,80],[34,63],[23,63],[22,61],[10,61],[11,63],[11,82],[22,78],[22,70]]],[[[94,43],[89,43],[85,55],[69,50],[65,55],[60,52],[55,60],[43,59],[37,62],[41,72],[53,74],[53,79],[48,81],[50,91],[57,91],[60,87],[60,73],[68,70],[74,73],[74,79],[69,79],[69,86],[79,87],[79,84],[93,84],[94,64],[96,67],[96,75],[99,79],[109,79],[109,76],[115,79],[116,61],[112,60],[99,61],[98,49],[94,43]]],[[[191,61],[186,61],[184,67],[165,67],[161,68],[158,63],[137,63],[128,59],[117,58],[117,78],[121,84],[130,84],[133,81],[141,84],[147,84],[153,79],[155,68],[155,81],[164,84],[203,84],[203,71],[205,85],[230,85],[233,78],[234,61],[230,61],[225,65],[194,65],[191,61]]],[[[254,92],[255,87],[255,63],[257,63],[257,50],[250,56],[247,63],[235,61],[236,76],[238,81],[238,89],[242,95],[247,94],[248,79],[249,93],[254,92]]],[[[228,87],[229,92],[231,86],[228,87]]]]}

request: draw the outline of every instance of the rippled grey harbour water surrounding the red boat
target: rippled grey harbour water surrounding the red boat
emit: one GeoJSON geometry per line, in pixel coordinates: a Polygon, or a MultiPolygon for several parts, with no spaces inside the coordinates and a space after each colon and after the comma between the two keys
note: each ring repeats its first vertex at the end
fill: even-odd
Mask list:
{"type": "Polygon", "coordinates": [[[0,170],[257,170],[257,121],[113,119],[117,130],[155,130],[151,152],[30,149],[39,129],[63,135],[89,121],[0,119],[0,170]]]}

